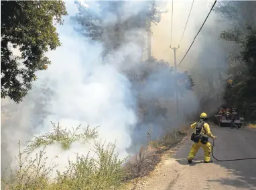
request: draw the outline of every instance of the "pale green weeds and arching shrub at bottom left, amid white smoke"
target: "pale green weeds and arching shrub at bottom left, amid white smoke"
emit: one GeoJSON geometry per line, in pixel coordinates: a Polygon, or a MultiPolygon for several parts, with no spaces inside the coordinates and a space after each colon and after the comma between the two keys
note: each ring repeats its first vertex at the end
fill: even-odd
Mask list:
{"type": "Polygon", "coordinates": [[[123,179],[123,168],[125,159],[118,159],[115,153],[115,145],[101,143],[94,140],[94,157],[88,154],[76,155],[76,161],[69,161],[66,171],[60,173],[56,170],[58,165],[46,167],[48,157],[46,147],[55,143],[61,143],[62,149],[67,150],[74,141],[86,142],[86,140],[97,138],[96,128],[86,128],[84,132],[78,132],[78,128],[72,132],[60,125],[53,124],[52,132],[43,134],[31,140],[25,151],[21,151],[19,143],[19,156],[17,169],[7,167],[9,175],[1,178],[1,187],[6,189],[121,189],[123,179]],[[64,146],[65,145],[65,146],[64,146]],[[39,147],[44,147],[34,159],[27,159],[33,151],[39,147]],[[57,176],[52,177],[52,172],[56,170],[57,176]]]}

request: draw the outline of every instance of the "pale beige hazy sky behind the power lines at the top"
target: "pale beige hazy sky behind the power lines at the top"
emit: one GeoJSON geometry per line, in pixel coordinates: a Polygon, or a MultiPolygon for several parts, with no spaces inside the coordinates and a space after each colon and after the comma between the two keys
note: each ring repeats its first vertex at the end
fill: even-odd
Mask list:
{"type": "MultiPolygon", "coordinates": [[[[151,37],[151,50],[152,56],[159,60],[166,60],[171,64],[174,64],[174,50],[170,49],[171,42],[171,25],[172,25],[172,46],[178,47],[180,43],[180,49],[177,50],[176,57],[177,63],[180,62],[186,51],[188,50],[190,44],[192,43],[194,36],[200,29],[204,19],[206,18],[208,12],[210,11],[210,6],[214,1],[194,1],[192,11],[190,13],[190,19],[184,33],[182,42],[180,39],[184,27],[186,25],[186,20],[188,19],[188,13],[190,12],[190,7],[192,1],[177,1],[174,0],[174,13],[173,13],[173,24],[172,24],[172,1],[168,3],[168,13],[162,15],[162,21],[156,26],[153,25],[152,37],[151,37]]],[[[210,15],[211,16],[211,15],[210,15]]],[[[209,16],[209,18],[210,18],[209,16]]],[[[206,22],[205,25],[208,23],[206,22]]],[[[200,34],[199,34],[200,35],[200,34]]],[[[198,38],[199,38],[198,35],[198,38]]],[[[192,48],[196,48],[196,43],[198,43],[198,38],[194,42],[192,48]]],[[[188,56],[192,56],[188,53],[188,56]]],[[[188,60],[185,59],[180,68],[186,69],[188,66],[188,60]]]]}

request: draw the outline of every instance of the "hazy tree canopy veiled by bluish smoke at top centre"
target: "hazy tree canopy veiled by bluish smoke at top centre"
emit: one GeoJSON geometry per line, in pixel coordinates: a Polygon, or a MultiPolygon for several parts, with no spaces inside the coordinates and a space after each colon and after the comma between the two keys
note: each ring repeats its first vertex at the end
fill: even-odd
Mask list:
{"type": "MultiPolygon", "coordinates": [[[[84,5],[75,1],[78,13],[72,17],[79,27],[76,31],[87,39],[103,43],[103,56],[120,48],[125,41],[125,32],[132,29],[147,29],[150,23],[159,23],[162,11],[155,1],[92,1],[84,5]],[[141,7],[131,11],[131,7],[141,7]]],[[[143,39],[143,37],[141,38],[143,39]]]]}

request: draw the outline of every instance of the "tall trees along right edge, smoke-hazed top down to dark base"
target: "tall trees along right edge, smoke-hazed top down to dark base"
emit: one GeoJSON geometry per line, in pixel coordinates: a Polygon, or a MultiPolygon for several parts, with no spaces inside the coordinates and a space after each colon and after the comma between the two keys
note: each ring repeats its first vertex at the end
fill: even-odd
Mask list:
{"type": "Polygon", "coordinates": [[[233,21],[233,28],[220,33],[233,44],[225,100],[243,110],[247,119],[256,117],[256,2],[223,1],[215,11],[233,21]]]}

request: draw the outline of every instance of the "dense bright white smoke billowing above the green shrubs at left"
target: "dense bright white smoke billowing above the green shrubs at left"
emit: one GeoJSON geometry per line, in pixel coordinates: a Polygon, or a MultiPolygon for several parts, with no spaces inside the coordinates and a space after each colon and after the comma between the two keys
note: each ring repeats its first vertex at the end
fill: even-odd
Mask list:
{"type": "MultiPolygon", "coordinates": [[[[67,2],[69,15],[64,17],[64,25],[58,26],[62,46],[47,53],[52,65],[45,72],[38,72],[38,80],[21,105],[13,105],[19,112],[15,116],[17,123],[12,122],[11,126],[3,123],[2,141],[6,142],[5,150],[12,158],[12,165],[13,156],[17,155],[17,140],[22,139],[21,145],[25,145],[32,135],[49,132],[51,121],[68,129],[79,124],[82,128],[88,124],[100,126],[99,136],[116,143],[121,158],[128,156],[126,149],[131,146],[131,132],[137,122],[131,84],[115,64],[101,61],[101,44],[89,43],[74,31],[74,23],[69,19],[74,15],[74,6],[73,2],[67,2]],[[48,93],[42,93],[43,86],[48,93]],[[41,107],[37,114],[38,104],[41,107]],[[44,116],[43,110],[48,111],[44,116]]],[[[115,62],[121,61],[115,58],[115,62]]],[[[86,155],[90,148],[73,143],[70,150],[62,151],[59,145],[52,145],[46,148],[46,156],[50,162],[58,155],[53,162],[63,171],[68,158],[74,161],[74,153],[86,155]]]]}

